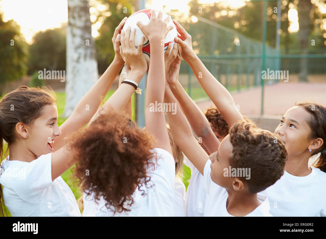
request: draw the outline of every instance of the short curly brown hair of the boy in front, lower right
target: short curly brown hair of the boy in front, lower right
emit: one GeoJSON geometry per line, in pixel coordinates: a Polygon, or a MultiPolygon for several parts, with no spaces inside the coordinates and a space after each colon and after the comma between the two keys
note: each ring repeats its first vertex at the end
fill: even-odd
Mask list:
{"type": "Polygon", "coordinates": [[[250,179],[241,178],[250,193],[259,193],[281,178],[288,158],[282,139],[245,120],[233,124],[229,134],[233,147],[230,166],[250,168],[250,179]]]}

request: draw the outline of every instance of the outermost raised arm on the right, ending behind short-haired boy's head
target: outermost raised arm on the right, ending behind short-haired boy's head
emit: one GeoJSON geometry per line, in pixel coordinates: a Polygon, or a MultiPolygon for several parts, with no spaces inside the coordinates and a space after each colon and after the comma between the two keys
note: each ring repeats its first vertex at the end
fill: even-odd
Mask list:
{"type": "Polygon", "coordinates": [[[187,61],[201,87],[214,102],[228,125],[231,126],[238,120],[243,120],[229,91],[215,79],[192,50],[191,35],[176,20],[173,20],[173,22],[179,35],[174,40],[181,47],[181,56],[187,61]]]}

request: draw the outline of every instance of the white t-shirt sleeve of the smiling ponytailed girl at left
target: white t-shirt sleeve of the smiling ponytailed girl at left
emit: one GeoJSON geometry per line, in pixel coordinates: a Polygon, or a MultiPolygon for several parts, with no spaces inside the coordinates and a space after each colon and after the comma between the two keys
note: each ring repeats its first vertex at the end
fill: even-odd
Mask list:
{"type": "Polygon", "coordinates": [[[51,155],[52,153],[44,154],[24,164],[19,169],[19,177],[11,177],[13,188],[22,199],[38,203],[45,190],[53,185],[51,155]]]}

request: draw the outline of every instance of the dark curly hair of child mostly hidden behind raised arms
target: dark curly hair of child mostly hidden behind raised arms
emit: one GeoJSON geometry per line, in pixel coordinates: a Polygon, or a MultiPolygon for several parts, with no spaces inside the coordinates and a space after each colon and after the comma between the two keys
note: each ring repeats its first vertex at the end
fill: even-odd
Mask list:
{"type": "Polygon", "coordinates": [[[228,123],[215,106],[207,107],[204,111],[206,119],[212,123],[213,130],[217,129],[220,136],[224,137],[229,133],[228,123]]]}

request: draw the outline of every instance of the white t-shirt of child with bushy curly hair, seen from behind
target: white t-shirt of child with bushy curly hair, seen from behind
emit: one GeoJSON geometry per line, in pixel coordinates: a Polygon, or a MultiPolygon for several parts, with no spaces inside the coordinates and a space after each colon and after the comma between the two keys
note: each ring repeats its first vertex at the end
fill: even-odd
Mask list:
{"type": "Polygon", "coordinates": [[[153,161],[155,169],[148,168],[151,177],[151,188],[141,186],[146,195],[137,189],[132,194],[134,203],[128,212],[115,213],[106,208],[103,197],[99,201],[94,200],[94,193],[87,197],[83,193],[84,211],[83,217],[140,217],[140,216],[174,216],[174,178],[175,164],[173,156],[166,150],[154,148],[158,159],[153,161]]]}

